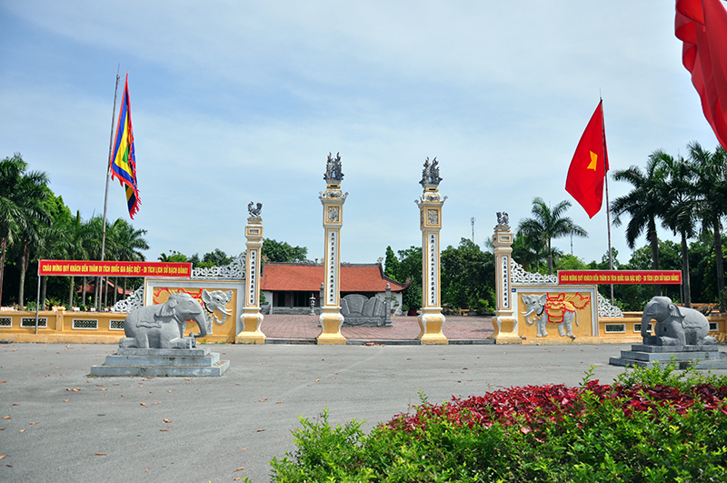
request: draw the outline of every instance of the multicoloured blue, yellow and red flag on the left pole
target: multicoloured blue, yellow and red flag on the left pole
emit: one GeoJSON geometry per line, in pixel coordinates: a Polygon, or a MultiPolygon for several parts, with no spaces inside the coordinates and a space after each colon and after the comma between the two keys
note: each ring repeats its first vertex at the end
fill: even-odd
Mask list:
{"type": "Polygon", "coordinates": [[[111,178],[118,178],[121,186],[126,188],[126,203],[129,216],[139,211],[141,200],[139,188],[136,186],[136,153],[134,150],[134,129],[131,126],[131,104],[129,103],[129,75],[124,82],[124,100],[119,111],[119,122],[116,126],[114,155],[111,157],[111,178]]]}

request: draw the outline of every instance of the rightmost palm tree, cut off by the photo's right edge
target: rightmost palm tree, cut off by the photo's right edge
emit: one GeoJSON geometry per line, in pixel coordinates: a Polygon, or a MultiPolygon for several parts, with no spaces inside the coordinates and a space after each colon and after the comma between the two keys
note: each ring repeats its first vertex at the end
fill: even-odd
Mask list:
{"type": "Polygon", "coordinates": [[[696,173],[697,211],[702,219],[702,233],[711,233],[714,240],[717,293],[721,294],[724,289],[721,231],[722,216],[727,215],[727,152],[717,146],[712,154],[696,141],[687,145],[687,150],[696,173]]]}

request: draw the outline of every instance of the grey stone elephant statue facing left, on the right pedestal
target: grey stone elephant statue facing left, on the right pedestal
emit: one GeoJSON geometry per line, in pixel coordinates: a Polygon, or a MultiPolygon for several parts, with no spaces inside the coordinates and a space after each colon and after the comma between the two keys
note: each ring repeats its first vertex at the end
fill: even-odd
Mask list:
{"type": "Polygon", "coordinates": [[[716,344],[707,317],[693,308],[679,307],[669,297],[653,297],[643,307],[642,337],[647,346],[702,346],[716,344]],[[653,336],[649,322],[656,320],[653,336]]]}

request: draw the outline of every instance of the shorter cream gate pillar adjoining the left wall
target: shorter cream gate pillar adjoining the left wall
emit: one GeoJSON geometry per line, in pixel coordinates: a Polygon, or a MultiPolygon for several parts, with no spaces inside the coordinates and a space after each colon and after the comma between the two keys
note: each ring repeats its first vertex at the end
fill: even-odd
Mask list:
{"type": "Polygon", "coordinates": [[[250,217],[244,227],[244,236],[247,238],[247,257],[245,259],[244,277],[244,308],[240,316],[243,330],[234,337],[235,344],[264,344],[265,335],[260,331],[263,323],[263,314],[260,313],[260,261],[263,250],[263,218],[260,212],[263,204],[257,207],[253,202],[247,206],[250,217]]]}

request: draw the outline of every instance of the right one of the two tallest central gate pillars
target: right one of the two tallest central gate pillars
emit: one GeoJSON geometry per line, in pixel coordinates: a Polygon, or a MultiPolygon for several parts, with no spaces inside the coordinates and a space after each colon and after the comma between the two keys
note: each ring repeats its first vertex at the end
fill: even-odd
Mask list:
{"type": "Polygon", "coordinates": [[[439,232],[442,230],[442,206],[447,196],[439,196],[439,167],[435,157],[424,162],[422,181],[424,192],[421,199],[414,200],[419,206],[420,228],[422,229],[422,313],[419,315],[421,332],[416,337],[422,344],[448,344],[442,333],[444,316],[439,262],[439,232]]]}

